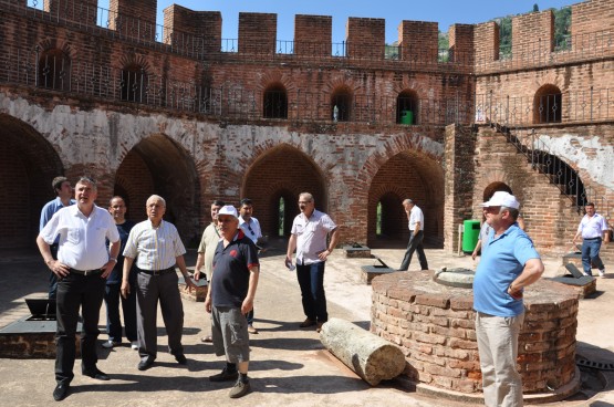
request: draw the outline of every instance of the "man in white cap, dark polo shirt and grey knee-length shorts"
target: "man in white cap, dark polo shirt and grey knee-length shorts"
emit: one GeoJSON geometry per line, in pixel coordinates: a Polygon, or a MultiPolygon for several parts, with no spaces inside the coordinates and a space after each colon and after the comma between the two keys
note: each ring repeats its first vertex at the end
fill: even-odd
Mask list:
{"type": "Polygon", "coordinates": [[[230,398],[250,392],[248,379],[249,333],[246,314],[253,307],[260,264],[258,249],[239,228],[239,216],[227,205],[218,212],[221,240],[214,257],[214,274],[205,300],[211,313],[211,336],[217,356],[226,356],[226,367],[211,382],[236,380],[230,398]]]}

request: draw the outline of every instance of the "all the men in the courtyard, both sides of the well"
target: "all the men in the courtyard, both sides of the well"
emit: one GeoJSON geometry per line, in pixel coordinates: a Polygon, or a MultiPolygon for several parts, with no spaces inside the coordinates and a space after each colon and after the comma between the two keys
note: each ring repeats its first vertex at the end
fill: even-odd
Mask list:
{"type": "MultiPolygon", "coordinates": [[[[176,268],[184,275],[186,288],[194,289],[187,272],[186,249],[177,229],[165,221],[166,201],[153,195],[147,199],[147,220],[134,223],[125,218],[126,202],[113,197],[108,210],[97,207],[96,182],[81,177],[73,191],[70,181],[58,177],[52,186],[58,197],[41,212],[41,231],[37,243],[51,270],[49,298],[56,301],[56,387],[55,400],[64,399],[74,377],[75,335],[81,309],[82,373],[100,380],[110,376],[96,366],[98,314],[103,300],[107,306],[108,340],[104,347],[122,343],[119,294],[125,335],[138,349],[139,371],[154,365],[157,356],[156,319],[160,304],[168,334],[168,347],[179,364],[187,358],[181,345],[184,309],[176,268]]],[[[410,231],[409,243],[400,270],[407,270],[414,251],[420,268],[428,269],[424,253],[424,215],[410,200],[403,201],[410,231]]],[[[489,227],[481,244],[481,261],[473,281],[476,334],[482,372],[485,401],[488,406],[522,405],[522,383],[516,367],[518,336],[523,321],[523,290],[543,273],[543,263],[533,242],[519,227],[520,204],[508,191],[497,191],[482,204],[489,227]]],[[[294,218],[288,242],[285,265],[293,270],[301,289],[305,320],[300,327],[316,326],[320,332],[327,321],[324,292],[324,265],[339,242],[339,228],[326,215],[315,209],[309,192],[299,196],[300,213],[294,218]],[[329,239],[330,238],[330,239],[329,239]]],[[[211,382],[233,380],[229,396],[241,397],[250,392],[248,379],[249,334],[253,326],[253,302],[260,262],[258,246],[262,231],[252,216],[250,199],[233,206],[216,200],[211,219],[198,249],[195,280],[205,278],[209,290],[205,309],[211,314],[211,334],[217,356],[226,357],[221,373],[211,382]],[[239,215],[240,213],[240,215],[239,215]]],[[[586,205],[586,215],[573,241],[583,239],[584,272],[592,264],[600,275],[605,273],[599,258],[602,241],[610,239],[607,222],[586,205]]]]}

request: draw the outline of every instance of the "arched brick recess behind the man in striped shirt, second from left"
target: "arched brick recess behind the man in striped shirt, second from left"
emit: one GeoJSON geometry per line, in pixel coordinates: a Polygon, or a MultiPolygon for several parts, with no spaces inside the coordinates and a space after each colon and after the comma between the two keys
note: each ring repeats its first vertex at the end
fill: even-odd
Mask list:
{"type": "Polygon", "coordinates": [[[115,175],[113,195],[125,195],[127,217],[146,219],[145,202],[157,194],[166,200],[165,219],[175,223],[186,240],[198,237],[200,181],[188,152],[164,135],[152,135],[124,157],[115,175]]]}

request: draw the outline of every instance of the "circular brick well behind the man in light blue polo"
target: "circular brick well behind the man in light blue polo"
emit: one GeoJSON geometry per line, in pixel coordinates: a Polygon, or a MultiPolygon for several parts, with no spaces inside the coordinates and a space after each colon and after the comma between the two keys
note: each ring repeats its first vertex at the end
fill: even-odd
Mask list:
{"type": "MultiPolygon", "coordinates": [[[[371,331],[400,346],[404,374],[417,389],[481,397],[471,289],[441,285],[433,272],[397,272],[373,280],[371,331]]],[[[525,398],[562,399],[575,393],[577,294],[540,280],[525,290],[518,368],[525,398]]]]}

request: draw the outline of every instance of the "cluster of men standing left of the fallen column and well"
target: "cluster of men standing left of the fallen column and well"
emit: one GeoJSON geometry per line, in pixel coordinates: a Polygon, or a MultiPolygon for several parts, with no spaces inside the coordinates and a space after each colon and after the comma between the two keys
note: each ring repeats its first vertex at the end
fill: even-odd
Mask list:
{"type": "MultiPolygon", "coordinates": [[[[127,206],[122,197],[111,199],[107,210],[95,205],[96,182],[81,177],[73,189],[64,177],[53,180],[58,198],[41,213],[37,244],[49,267],[50,299],[56,301],[56,358],[53,398],[64,399],[74,377],[75,338],[82,316],[82,373],[98,380],[110,376],[96,366],[96,338],[100,309],[107,309],[108,340],[103,347],[122,343],[119,302],[125,335],[137,349],[139,371],[150,368],[157,356],[157,305],[160,304],[168,335],[168,347],[177,363],[187,358],[181,345],[184,309],[178,289],[178,268],[186,289],[195,288],[187,272],[186,249],[174,225],[165,221],[166,201],[153,195],[147,199],[147,220],[134,223],[125,218],[127,206]],[[119,300],[121,299],[121,300],[119,300]]],[[[308,327],[327,321],[323,286],[324,261],[339,240],[331,218],[316,211],[310,194],[301,194],[301,213],[292,227],[287,263],[296,249],[298,280],[303,295],[308,327]],[[331,233],[330,246],[326,237],[331,233]]],[[[249,334],[253,327],[253,301],[258,286],[260,225],[252,215],[252,202],[241,200],[240,216],[233,206],[217,200],[211,205],[212,222],[205,229],[198,249],[195,279],[205,275],[209,290],[205,301],[211,314],[211,335],[216,355],[226,356],[226,367],[211,382],[235,380],[229,396],[242,397],[250,392],[248,379],[249,334]]]]}

